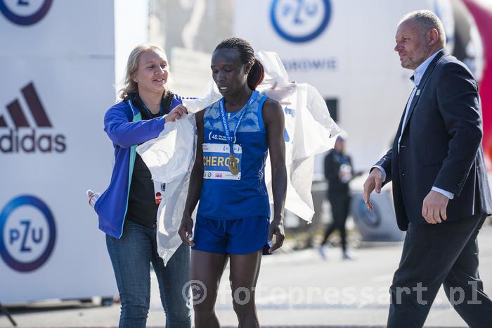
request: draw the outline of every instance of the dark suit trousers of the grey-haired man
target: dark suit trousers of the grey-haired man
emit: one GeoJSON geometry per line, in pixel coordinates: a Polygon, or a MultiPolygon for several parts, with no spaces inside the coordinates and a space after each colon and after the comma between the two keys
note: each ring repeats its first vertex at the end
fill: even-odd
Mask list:
{"type": "Polygon", "coordinates": [[[470,328],[492,327],[492,301],[478,272],[477,234],[484,220],[410,223],[390,288],[388,328],[423,327],[441,284],[470,328]]]}

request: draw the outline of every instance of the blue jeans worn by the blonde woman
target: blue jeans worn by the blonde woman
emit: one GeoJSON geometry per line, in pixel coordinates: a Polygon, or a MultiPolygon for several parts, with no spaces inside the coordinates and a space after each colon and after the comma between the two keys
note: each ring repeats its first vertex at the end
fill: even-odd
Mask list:
{"type": "Polygon", "coordinates": [[[150,263],[159,282],[167,328],[190,328],[190,248],[181,244],[164,267],[157,254],[157,229],[124,223],[121,239],[106,235],[122,308],[119,328],[145,328],[150,304],[150,263]],[[185,287],[186,286],[186,287],[185,287]],[[183,288],[185,295],[183,297],[183,288]]]}

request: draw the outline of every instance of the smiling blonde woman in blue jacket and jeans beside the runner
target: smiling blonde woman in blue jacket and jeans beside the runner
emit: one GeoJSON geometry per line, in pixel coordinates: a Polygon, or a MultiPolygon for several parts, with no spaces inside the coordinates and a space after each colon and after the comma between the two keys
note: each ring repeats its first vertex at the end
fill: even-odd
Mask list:
{"type": "Polygon", "coordinates": [[[166,87],[169,65],[164,51],[143,44],[131,51],[120,96],[108,109],[104,130],[115,148],[108,189],[94,206],[106,234],[121,298],[119,327],[145,327],[150,302],[150,263],[159,283],[166,327],[190,328],[188,282],[190,248],[182,244],[164,267],[157,253],[156,218],[164,185],[154,184],[138,156],[138,144],[157,137],[167,122],[187,113],[181,98],[166,87]],[[170,108],[173,108],[170,110],[170,108]],[[184,295],[184,296],[183,296],[184,295]]]}

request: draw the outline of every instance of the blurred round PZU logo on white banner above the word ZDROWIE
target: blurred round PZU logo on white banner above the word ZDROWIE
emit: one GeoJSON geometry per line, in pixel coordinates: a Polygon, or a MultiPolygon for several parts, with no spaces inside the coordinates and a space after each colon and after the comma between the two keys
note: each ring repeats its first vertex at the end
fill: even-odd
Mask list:
{"type": "Polygon", "coordinates": [[[271,23],[290,42],[308,42],[318,37],[330,21],[330,0],[273,0],[271,23]]]}

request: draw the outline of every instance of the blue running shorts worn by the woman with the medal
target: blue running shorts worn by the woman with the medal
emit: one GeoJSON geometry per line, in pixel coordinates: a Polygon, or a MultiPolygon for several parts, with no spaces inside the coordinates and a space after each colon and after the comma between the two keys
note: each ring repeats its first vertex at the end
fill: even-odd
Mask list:
{"type": "Polygon", "coordinates": [[[197,215],[192,249],[217,254],[249,254],[260,251],[268,239],[266,216],[216,220],[197,215]]]}

